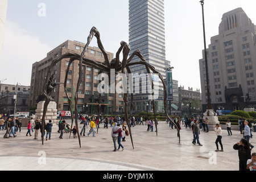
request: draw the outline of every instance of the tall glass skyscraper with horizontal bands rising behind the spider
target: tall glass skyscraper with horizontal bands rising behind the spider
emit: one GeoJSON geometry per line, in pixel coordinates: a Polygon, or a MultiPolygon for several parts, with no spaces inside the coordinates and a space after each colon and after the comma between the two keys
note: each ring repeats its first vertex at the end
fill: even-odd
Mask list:
{"type": "MultiPolygon", "coordinates": [[[[164,0],[129,0],[129,44],[131,53],[139,49],[147,63],[154,66],[163,78],[166,78],[164,68],[170,67],[170,61],[166,60],[164,0]]],[[[140,59],[135,56],[133,61],[140,61],[140,59]]],[[[147,73],[144,65],[135,65],[131,68],[131,72],[147,73]]],[[[157,82],[158,78],[154,77],[154,80],[155,86],[159,85],[159,97],[155,99],[156,110],[164,112],[163,85],[160,79],[157,82]]],[[[142,92],[142,80],[139,84],[142,92]]],[[[152,110],[150,94],[135,94],[134,111],[146,111],[147,109],[152,110]],[[148,104],[148,107],[146,104],[148,104]]]]}

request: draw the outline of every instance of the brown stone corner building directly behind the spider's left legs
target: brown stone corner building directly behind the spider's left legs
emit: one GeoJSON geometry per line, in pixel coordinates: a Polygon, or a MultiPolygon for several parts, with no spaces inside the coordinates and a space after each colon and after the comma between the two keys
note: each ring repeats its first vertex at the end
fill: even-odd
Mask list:
{"type": "MultiPolygon", "coordinates": [[[[81,54],[85,44],[77,41],[67,40],[60,46],[47,53],[47,57],[32,65],[30,107],[35,107],[42,100],[43,84],[46,78],[48,67],[52,60],[67,52],[81,54]]],[[[107,52],[109,60],[113,59],[113,53],[107,52]]],[[[85,56],[90,59],[103,63],[104,55],[97,47],[88,47],[85,56]]],[[[63,59],[53,68],[53,80],[56,83],[64,83],[69,59],[63,59]]],[[[97,114],[99,93],[98,87],[99,70],[88,65],[82,66],[82,82],[79,88],[78,111],[81,113],[97,114]]],[[[70,98],[74,98],[74,93],[79,78],[79,61],[76,60],[68,72],[67,91],[70,98]]],[[[51,94],[57,104],[57,110],[68,111],[68,98],[64,92],[64,85],[57,85],[51,94]]],[[[102,94],[101,101],[102,114],[117,114],[123,111],[122,94],[102,94]]]]}

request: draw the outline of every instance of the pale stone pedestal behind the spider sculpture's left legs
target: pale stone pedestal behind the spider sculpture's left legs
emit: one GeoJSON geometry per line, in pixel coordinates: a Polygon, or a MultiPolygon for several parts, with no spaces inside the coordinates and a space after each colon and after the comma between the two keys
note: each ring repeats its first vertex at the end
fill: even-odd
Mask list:
{"type": "MultiPolygon", "coordinates": [[[[41,101],[38,103],[38,109],[36,109],[36,119],[42,119],[43,118],[43,112],[44,112],[44,102],[46,101],[41,101]]],[[[57,121],[57,104],[54,101],[49,102],[47,111],[46,111],[46,118],[45,121],[46,123],[49,122],[49,120],[52,121],[53,124],[58,123],[57,121]]]]}

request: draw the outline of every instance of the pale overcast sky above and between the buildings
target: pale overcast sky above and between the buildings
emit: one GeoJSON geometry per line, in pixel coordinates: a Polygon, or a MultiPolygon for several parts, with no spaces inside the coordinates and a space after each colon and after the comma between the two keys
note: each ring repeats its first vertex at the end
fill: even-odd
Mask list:
{"type": "MultiPolygon", "coordinates": [[[[166,59],[174,67],[174,80],[185,89],[201,90],[199,59],[204,41],[200,2],[164,3],[166,59]]],[[[205,0],[207,45],[210,37],[218,35],[222,15],[228,11],[242,7],[255,23],[255,5],[255,0],[205,0]]],[[[129,1],[9,0],[0,80],[30,85],[33,63],[68,39],[86,43],[93,26],[100,31],[106,51],[117,52],[122,40],[129,43],[129,1]]],[[[97,44],[93,41],[90,46],[97,44]]]]}

